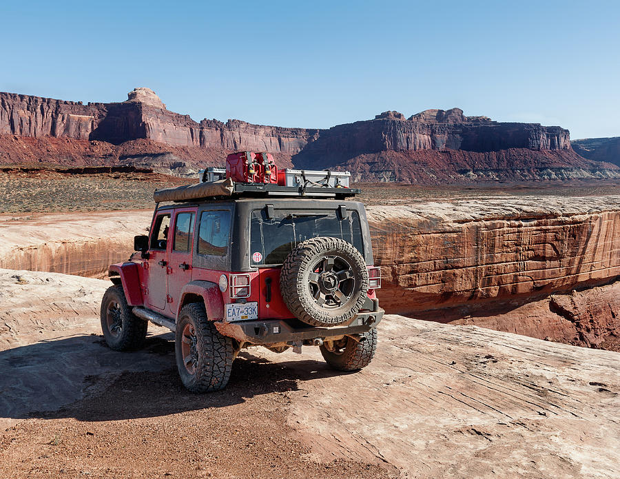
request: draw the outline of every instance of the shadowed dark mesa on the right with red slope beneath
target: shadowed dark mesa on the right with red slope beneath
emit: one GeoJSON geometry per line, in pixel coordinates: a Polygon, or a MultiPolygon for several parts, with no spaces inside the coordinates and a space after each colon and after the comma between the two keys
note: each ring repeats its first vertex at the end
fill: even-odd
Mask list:
{"type": "Polygon", "coordinates": [[[322,131],[291,159],[296,167],[349,170],[355,181],[459,183],[617,178],[608,163],[583,159],[568,130],[498,123],[462,110],[426,110],[409,119],[384,112],[374,120],[322,131]]]}

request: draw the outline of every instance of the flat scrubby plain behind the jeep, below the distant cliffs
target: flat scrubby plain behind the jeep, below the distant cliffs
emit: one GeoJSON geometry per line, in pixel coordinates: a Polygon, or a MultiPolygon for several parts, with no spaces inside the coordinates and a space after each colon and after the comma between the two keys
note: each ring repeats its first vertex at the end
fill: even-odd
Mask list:
{"type": "MultiPolygon", "coordinates": [[[[0,213],[139,210],[153,206],[156,189],[196,183],[156,173],[70,174],[63,170],[0,170],[0,213]]],[[[620,194],[619,180],[479,183],[461,186],[415,186],[359,183],[367,205],[402,204],[413,199],[488,196],[603,196],[620,194]]]]}

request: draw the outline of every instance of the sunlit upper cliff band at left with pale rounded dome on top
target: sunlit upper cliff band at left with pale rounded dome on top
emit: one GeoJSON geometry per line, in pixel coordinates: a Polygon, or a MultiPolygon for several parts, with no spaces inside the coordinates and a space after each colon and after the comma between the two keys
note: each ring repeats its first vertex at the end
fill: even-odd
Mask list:
{"type": "Polygon", "coordinates": [[[260,150],[295,154],[318,130],[203,120],[165,109],[148,88],[124,103],[82,103],[0,92],[0,134],[123,143],[151,139],[182,147],[260,150]]]}

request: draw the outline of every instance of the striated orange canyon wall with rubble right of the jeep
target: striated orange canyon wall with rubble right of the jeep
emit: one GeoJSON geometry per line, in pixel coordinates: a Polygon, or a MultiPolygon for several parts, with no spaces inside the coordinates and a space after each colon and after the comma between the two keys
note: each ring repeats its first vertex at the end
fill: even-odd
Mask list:
{"type": "Polygon", "coordinates": [[[620,278],[620,196],[420,201],[368,214],[386,311],[620,348],[620,283],[572,293],[620,278]]]}

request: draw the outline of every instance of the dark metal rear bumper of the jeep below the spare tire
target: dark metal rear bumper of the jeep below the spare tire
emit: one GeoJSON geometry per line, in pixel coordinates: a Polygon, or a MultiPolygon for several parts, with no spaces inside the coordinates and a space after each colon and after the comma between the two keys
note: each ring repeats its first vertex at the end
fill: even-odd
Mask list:
{"type": "Polygon", "coordinates": [[[293,327],[283,319],[267,319],[227,323],[214,322],[215,327],[224,336],[229,336],[240,343],[254,345],[273,345],[278,343],[298,343],[304,340],[320,338],[333,340],[342,336],[362,334],[376,327],[383,318],[384,310],[362,312],[355,315],[349,325],[333,327],[293,327]]]}

